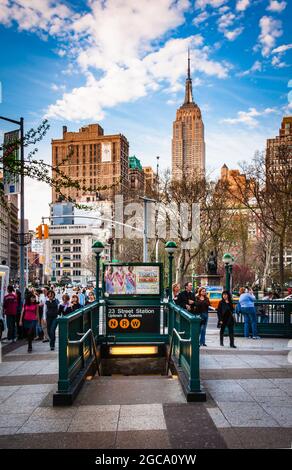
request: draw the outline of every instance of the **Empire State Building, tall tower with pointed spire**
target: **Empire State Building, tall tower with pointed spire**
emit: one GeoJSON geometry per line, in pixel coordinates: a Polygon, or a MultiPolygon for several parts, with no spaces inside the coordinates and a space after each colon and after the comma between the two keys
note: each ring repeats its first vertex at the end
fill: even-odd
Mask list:
{"type": "Polygon", "coordinates": [[[201,110],[193,99],[188,54],[188,75],[184,104],[176,112],[172,138],[172,179],[205,175],[204,123],[201,110]]]}

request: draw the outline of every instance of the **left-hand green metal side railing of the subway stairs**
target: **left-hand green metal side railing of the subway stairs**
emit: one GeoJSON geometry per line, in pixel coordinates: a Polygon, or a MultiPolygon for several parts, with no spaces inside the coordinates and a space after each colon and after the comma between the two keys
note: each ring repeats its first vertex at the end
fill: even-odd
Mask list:
{"type": "Polygon", "coordinates": [[[82,341],[80,337],[91,330],[93,337],[97,338],[99,311],[103,305],[103,302],[94,302],[59,318],[58,393],[69,393],[78,374],[96,359],[96,351],[90,335],[88,334],[82,341]]]}

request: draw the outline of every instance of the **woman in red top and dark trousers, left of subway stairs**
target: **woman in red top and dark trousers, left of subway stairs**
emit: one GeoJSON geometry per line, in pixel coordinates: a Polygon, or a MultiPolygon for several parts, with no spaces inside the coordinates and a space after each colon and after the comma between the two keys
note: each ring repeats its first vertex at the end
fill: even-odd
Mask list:
{"type": "Polygon", "coordinates": [[[19,325],[24,327],[28,348],[27,352],[32,352],[32,341],[35,336],[35,329],[40,323],[39,306],[36,302],[36,296],[32,292],[28,292],[22,308],[19,325]]]}

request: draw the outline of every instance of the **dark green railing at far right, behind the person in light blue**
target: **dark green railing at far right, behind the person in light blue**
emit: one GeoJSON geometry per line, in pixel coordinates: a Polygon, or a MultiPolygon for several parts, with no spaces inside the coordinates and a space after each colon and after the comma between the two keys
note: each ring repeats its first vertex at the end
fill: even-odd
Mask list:
{"type": "MultiPolygon", "coordinates": [[[[257,328],[260,336],[292,338],[292,302],[285,300],[256,300],[257,328]]],[[[244,334],[244,316],[236,314],[234,333],[244,334]]]]}

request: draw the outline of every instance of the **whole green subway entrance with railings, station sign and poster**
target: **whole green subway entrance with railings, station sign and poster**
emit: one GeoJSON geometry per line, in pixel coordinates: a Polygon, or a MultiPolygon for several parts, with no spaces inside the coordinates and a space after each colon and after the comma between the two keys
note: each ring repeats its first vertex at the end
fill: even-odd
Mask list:
{"type": "Polygon", "coordinates": [[[162,280],[161,263],[104,265],[101,299],[59,319],[55,406],[71,405],[88,375],[163,375],[170,363],[187,400],[206,399],[200,386],[200,320],[164,301],[162,280]]]}

